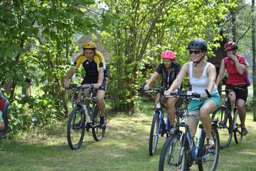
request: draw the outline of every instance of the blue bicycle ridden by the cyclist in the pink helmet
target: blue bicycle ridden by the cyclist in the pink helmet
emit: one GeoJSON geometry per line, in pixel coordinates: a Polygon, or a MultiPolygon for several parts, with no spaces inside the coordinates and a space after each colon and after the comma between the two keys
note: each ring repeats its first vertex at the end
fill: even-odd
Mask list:
{"type": "MultiPolygon", "coordinates": [[[[162,102],[162,96],[164,96],[164,89],[149,89],[148,91],[144,91],[146,93],[160,93],[159,102],[156,104],[156,109],[154,110],[151,128],[149,133],[149,155],[153,156],[156,153],[156,148],[158,145],[159,136],[166,137],[169,136],[169,118],[168,114],[166,116],[166,122],[164,121],[164,104],[162,102]]],[[[176,112],[179,111],[178,106],[176,106],[176,112]]],[[[178,118],[176,118],[178,121],[178,118]]]]}

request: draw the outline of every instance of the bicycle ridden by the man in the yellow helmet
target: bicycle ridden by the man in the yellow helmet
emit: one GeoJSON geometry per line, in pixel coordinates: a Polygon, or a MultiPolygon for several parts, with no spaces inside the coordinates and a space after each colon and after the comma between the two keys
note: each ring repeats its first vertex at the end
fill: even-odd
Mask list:
{"type": "Polygon", "coordinates": [[[69,89],[73,91],[74,108],[68,118],[67,138],[68,145],[72,150],[80,148],[82,140],[92,128],[92,136],[95,141],[100,141],[105,135],[106,128],[100,128],[100,109],[96,101],[96,89],[91,86],[78,86],[70,84],[69,89]],[[85,96],[85,91],[89,96],[85,96]],[[78,94],[80,100],[78,101],[78,94]]]}

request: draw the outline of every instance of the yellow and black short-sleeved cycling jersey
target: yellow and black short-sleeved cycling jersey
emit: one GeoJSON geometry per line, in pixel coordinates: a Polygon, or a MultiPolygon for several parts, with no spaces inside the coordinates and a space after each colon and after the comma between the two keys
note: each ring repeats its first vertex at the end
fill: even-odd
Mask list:
{"type": "Polygon", "coordinates": [[[100,68],[104,69],[104,77],[107,77],[105,60],[102,53],[99,51],[95,51],[92,61],[87,60],[87,57],[85,57],[85,55],[82,53],[78,55],[73,66],[78,69],[81,64],[85,69],[85,77],[83,82],[86,84],[97,83],[98,71],[100,68]]]}

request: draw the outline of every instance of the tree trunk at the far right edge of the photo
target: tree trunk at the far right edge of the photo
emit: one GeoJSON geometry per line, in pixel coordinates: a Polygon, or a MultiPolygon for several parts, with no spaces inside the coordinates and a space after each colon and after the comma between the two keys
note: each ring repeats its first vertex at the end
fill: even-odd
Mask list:
{"type": "Polygon", "coordinates": [[[256,47],[255,47],[255,0],[252,0],[252,82],[253,82],[253,121],[256,121],[256,47]]]}

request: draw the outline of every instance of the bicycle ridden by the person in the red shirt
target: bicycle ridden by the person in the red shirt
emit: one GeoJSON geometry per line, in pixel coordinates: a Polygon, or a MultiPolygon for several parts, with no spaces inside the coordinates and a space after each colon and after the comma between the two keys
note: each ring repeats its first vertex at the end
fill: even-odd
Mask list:
{"type": "MultiPolygon", "coordinates": [[[[240,87],[233,87],[233,89],[241,89],[240,87]]],[[[221,90],[221,92],[226,92],[221,90]]],[[[213,113],[212,119],[216,118],[218,121],[218,131],[220,133],[220,148],[228,148],[231,143],[232,136],[234,133],[235,143],[242,142],[242,128],[238,124],[238,108],[236,103],[233,107],[233,118],[230,112],[230,101],[228,94],[225,94],[225,104],[221,105],[217,112],[213,113]]]]}

